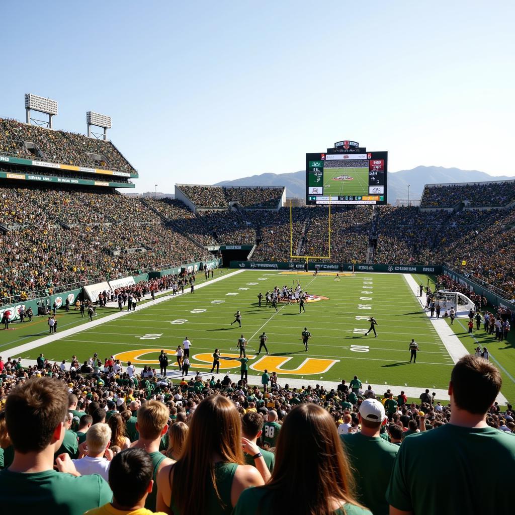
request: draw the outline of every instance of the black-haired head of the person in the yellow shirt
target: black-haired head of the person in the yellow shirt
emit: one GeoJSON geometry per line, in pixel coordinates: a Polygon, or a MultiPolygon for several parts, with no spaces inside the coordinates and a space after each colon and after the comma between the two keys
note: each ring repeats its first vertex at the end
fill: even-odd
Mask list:
{"type": "Polygon", "coordinates": [[[123,508],[144,504],[152,491],[153,465],[148,453],[143,449],[126,449],[111,461],[109,486],[113,498],[123,508]]]}

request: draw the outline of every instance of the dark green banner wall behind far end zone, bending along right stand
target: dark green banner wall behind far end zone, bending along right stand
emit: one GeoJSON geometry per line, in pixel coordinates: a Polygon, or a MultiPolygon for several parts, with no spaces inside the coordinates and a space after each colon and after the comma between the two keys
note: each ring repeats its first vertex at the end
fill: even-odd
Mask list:
{"type": "MultiPolygon", "coordinates": [[[[274,262],[274,261],[231,261],[229,268],[248,268],[254,270],[304,270],[304,262],[274,262]]],[[[510,311],[515,310],[513,295],[500,288],[496,288],[476,277],[466,276],[454,270],[449,264],[442,265],[394,265],[394,264],[364,264],[364,263],[323,263],[310,261],[308,270],[333,272],[387,272],[387,273],[422,273],[439,275],[444,273],[453,280],[467,287],[474,293],[483,295],[488,302],[510,311]]]]}

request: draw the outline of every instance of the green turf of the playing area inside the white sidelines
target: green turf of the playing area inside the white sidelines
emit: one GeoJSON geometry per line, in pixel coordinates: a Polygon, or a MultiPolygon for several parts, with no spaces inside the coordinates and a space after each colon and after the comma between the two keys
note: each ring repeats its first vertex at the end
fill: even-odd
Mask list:
{"type": "MultiPolygon", "coordinates": [[[[306,358],[314,360],[337,360],[327,371],[308,370],[299,375],[306,379],[336,381],[350,379],[357,374],[364,382],[393,385],[423,386],[436,388],[447,386],[452,361],[443,348],[427,317],[421,312],[417,300],[411,295],[402,275],[357,274],[342,277],[335,282],[331,276],[291,276],[268,271],[250,271],[237,274],[207,287],[198,289],[194,295],[160,303],[146,310],[136,311],[126,317],[101,324],[63,340],[33,349],[22,356],[34,359],[40,352],[45,356],[69,359],[77,354],[86,359],[93,352],[102,357],[127,350],[175,349],[187,335],[193,342],[192,355],[213,352],[215,347],[222,353],[230,353],[241,333],[245,334],[252,347],[257,344],[257,335],[265,330],[272,354],[288,359],[281,371],[283,376],[293,375],[291,370],[299,367],[306,358]],[[258,308],[258,291],[271,289],[274,285],[291,284],[299,279],[311,294],[328,297],[306,305],[306,313],[299,314],[298,306],[280,305],[279,312],[272,308],[258,308]],[[371,279],[367,279],[371,278],[371,279]],[[256,283],[256,284],[250,284],[256,283]],[[366,283],[366,284],[364,284],[366,283]],[[370,290],[373,294],[362,293],[370,290]],[[248,289],[239,289],[248,288],[248,289]],[[227,295],[237,293],[237,295],[227,295]],[[372,297],[373,300],[362,299],[372,297]],[[213,303],[215,300],[223,303],[213,303]],[[359,305],[372,305],[372,310],[360,309],[359,305]],[[204,309],[202,313],[191,313],[204,309]],[[230,325],[237,310],[243,313],[243,328],[230,325]],[[368,329],[366,320],[373,314],[379,322],[379,337],[364,336],[355,330],[368,329]],[[171,323],[184,320],[185,323],[171,323]],[[304,352],[300,333],[306,325],[313,334],[310,350],[304,352]],[[156,339],[145,338],[146,334],[159,335],[156,339]],[[423,352],[417,365],[406,363],[410,338],[415,338],[423,352]],[[367,352],[354,349],[364,346],[367,352]],[[311,372],[311,373],[309,373],[311,372]]],[[[147,337],[152,338],[152,336],[147,337]]],[[[155,353],[143,356],[155,359],[155,353]]],[[[257,359],[252,359],[255,363],[257,359]]],[[[192,368],[195,370],[195,359],[192,368]]],[[[237,369],[236,362],[224,362],[237,369]]],[[[310,364],[318,365],[318,361],[310,364]]],[[[229,370],[229,369],[228,369],[229,370]]],[[[251,371],[258,374],[258,371],[251,371]]]]}

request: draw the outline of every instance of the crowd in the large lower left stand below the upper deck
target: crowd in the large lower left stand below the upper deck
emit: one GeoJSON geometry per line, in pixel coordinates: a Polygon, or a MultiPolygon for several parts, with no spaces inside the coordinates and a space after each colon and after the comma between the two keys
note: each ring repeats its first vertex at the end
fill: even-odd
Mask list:
{"type": "Polygon", "coordinates": [[[0,202],[0,224],[11,226],[0,234],[2,298],[126,277],[205,253],[131,197],[0,188],[0,202]]]}

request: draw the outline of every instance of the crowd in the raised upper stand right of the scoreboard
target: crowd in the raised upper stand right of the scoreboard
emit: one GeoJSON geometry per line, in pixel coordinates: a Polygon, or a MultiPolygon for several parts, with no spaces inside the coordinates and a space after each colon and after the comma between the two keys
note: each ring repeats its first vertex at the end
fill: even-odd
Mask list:
{"type": "Polygon", "coordinates": [[[515,200],[515,181],[442,184],[425,186],[421,208],[454,208],[468,201],[467,207],[500,207],[515,200]]]}

